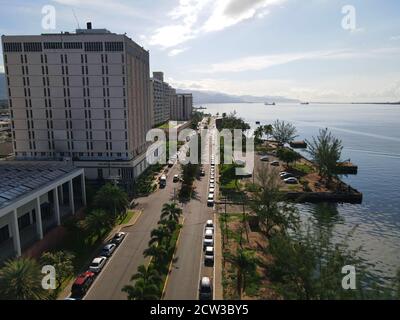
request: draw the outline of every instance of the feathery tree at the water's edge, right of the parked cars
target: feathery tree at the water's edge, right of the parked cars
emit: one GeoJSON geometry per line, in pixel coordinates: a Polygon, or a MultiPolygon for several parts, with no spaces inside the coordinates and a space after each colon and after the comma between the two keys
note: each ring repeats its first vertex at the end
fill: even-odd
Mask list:
{"type": "Polygon", "coordinates": [[[328,129],[323,129],[318,137],[313,137],[307,144],[307,152],[317,164],[320,176],[331,182],[336,176],[337,163],[342,155],[342,141],[335,138],[328,129]]]}

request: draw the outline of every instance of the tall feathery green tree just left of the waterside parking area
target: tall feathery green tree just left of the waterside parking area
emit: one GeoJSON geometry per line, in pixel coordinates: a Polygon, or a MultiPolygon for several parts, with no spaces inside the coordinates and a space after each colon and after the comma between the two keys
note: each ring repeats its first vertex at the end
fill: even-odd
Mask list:
{"type": "Polygon", "coordinates": [[[261,232],[270,238],[273,233],[296,229],[299,226],[297,210],[283,201],[278,172],[262,164],[256,174],[259,187],[250,194],[250,207],[257,216],[261,232]]]}

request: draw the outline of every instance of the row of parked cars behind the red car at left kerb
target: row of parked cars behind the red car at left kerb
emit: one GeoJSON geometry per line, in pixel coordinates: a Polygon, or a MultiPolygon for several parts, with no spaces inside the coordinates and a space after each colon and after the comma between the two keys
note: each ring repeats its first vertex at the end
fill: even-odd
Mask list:
{"type": "Polygon", "coordinates": [[[96,276],[100,274],[107,260],[113,255],[118,246],[124,241],[125,232],[118,232],[101,250],[98,257],[94,258],[89,269],[80,274],[74,281],[71,288],[71,295],[67,300],[81,300],[93,284],[96,276]]]}

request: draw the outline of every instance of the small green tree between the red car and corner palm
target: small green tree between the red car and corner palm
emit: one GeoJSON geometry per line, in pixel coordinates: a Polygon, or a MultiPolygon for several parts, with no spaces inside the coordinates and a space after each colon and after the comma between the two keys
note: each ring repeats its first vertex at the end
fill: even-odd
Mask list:
{"type": "Polygon", "coordinates": [[[64,280],[73,275],[74,258],[75,256],[67,251],[45,252],[42,254],[40,258],[41,264],[50,265],[56,269],[56,290],[61,288],[64,280]]]}

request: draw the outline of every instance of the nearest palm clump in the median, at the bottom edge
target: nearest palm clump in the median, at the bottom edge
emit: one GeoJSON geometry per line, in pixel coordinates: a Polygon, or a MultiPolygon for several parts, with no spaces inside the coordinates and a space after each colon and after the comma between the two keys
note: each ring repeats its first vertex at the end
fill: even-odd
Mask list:
{"type": "Polygon", "coordinates": [[[161,278],[155,269],[141,265],[131,281],[135,281],[135,285],[126,285],[122,289],[128,294],[128,300],[160,299],[161,278]]]}

